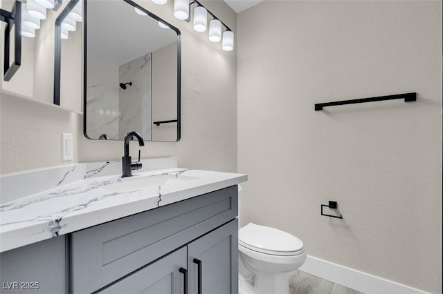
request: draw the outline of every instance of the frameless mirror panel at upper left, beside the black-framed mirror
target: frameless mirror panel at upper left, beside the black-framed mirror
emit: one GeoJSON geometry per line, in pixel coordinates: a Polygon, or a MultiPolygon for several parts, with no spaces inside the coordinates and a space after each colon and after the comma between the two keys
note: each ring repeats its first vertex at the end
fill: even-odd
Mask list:
{"type": "MultiPolygon", "coordinates": [[[[28,3],[30,1],[17,1],[21,3],[21,64],[15,75],[10,81],[0,82],[1,92],[14,95],[17,98],[32,99],[43,104],[53,105],[54,101],[54,61],[55,61],[55,42],[60,38],[55,37],[55,22],[64,12],[69,0],[55,0],[55,7],[44,10],[46,19],[35,19],[28,14],[28,3]],[[25,21],[26,20],[26,21],[25,21]]],[[[0,1],[0,8],[11,11],[12,7],[17,3],[16,0],[0,1]]],[[[70,32],[69,41],[78,39],[75,46],[66,46],[62,43],[63,54],[69,56],[62,63],[69,66],[66,72],[69,72],[68,90],[64,91],[66,97],[60,101],[60,108],[73,112],[82,112],[82,22],[76,21],[77,30],[70,32]],[[75,57],[75,58],[73,58],[75,57]],[[69,95],[67,95],[69,93],[69,95]]],[[[3,21],[1,22],[1,30],[4,31],[3,21]]],[[[3,33],[2,33],[3,34],[3,33]]],[[[11,38],[11,52],[14,51],[15,40],[11,38]]],[[[66,40],[63,40],[66,41],[66,40]]],[[[1,43],[1,51],[3,55],[3,39],[1,43]]],[[[12,57],[12,56],[11,56],[12,57]]],[[[3,56],[1,57],[3,61],[3,56]]],[[[11,60],[12,61],[12,60],[11,60]]],[[[3,70],[2,70],[3,72],[3,70]]]]}

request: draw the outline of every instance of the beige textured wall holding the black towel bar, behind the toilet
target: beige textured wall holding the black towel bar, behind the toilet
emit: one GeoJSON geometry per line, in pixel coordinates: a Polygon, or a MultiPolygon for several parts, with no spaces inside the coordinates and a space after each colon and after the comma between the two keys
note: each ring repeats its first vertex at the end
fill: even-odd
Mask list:
{"type": "Polygon", "coordinates": [[[442,2],[264,1],[237,30],[243,225],[441,293],[442,2]],[[402,92],[418,101],[314,111],[402,92]],[[328,200],[343,220],[320,216],[328,200]]]}

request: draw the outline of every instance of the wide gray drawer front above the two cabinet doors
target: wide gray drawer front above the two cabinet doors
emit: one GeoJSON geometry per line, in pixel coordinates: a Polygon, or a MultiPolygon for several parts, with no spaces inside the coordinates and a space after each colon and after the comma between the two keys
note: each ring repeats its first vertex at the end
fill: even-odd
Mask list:
{"type": "Polygon", "coordinates": [[[71,291],[91,293],[237,216],[237,186],[71,235],[71,291]]]}

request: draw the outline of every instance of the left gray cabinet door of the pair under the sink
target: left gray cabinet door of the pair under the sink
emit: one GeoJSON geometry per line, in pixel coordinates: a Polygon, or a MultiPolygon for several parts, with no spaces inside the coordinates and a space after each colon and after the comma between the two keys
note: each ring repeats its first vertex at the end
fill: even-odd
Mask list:
{"type": "Polygon", "coordinates": [[[98,293],[181,294],[186,286],[186,246],[148,264],[98,293]]]}

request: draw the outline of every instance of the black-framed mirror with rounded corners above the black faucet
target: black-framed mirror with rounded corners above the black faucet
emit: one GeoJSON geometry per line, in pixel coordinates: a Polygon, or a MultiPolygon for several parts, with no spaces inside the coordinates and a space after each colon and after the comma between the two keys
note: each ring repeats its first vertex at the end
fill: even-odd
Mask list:
{"type": "Polygon", "coordinates": [[[178,141],[180,31],[129,0],[83,7],[84,135],[178,141]]]}

